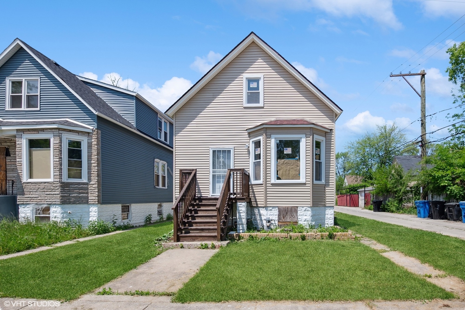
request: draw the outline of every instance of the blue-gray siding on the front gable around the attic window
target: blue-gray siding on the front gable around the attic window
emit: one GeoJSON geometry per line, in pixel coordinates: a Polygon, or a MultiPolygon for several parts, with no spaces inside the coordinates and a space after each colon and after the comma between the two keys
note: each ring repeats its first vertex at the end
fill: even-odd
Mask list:
{"type": "Polygon", "coordinates": [[[3,119],[72,118],[95,126],[96,116],[25,49],[0,67],[0,117],[3,119]],[[6,111],[7,77],[40,77],[40,110],[6,111]]]}

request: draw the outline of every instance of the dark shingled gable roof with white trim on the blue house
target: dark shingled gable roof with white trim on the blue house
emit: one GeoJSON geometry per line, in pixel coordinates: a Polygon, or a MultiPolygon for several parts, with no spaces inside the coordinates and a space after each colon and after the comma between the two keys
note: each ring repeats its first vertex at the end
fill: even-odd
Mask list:
{"type": "Polygon", "coordinates": [[[24,48],[35,60],[37,60],[40,65],[42,65],[47,71],[52,73],[52,75],[63,84],[74,96],[76,96],[82,103],[86,105],[89,110],[91,110],[95,115],[103,117],[113,123],[119,124],[126,129],[133,131],[141,136],[146,137],[147,139],[166,147],[167,149],[172,149],[169,146],[166,146],[164,143],[161,143],[146,134],[140,132],[136,129],[134,125],[121,116],[116,110],[114,110],[108,103],[106,103],[102,98],[97,96],[97,94],[84,82],[82,82],[76,75],[67,71],[65,68],[57,64],[52,59],[46,57],[41,52],[35,50],[31,46],[27,45],[25,42],[16,38],[14,41],[0,54],[0,67],[10,59],[14,53],[18,52],[20,48],[24,48]]]}

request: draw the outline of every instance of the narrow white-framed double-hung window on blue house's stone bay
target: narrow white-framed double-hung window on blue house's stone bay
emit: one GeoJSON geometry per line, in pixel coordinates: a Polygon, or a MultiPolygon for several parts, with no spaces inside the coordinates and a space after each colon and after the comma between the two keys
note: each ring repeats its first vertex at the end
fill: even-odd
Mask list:
{"type": "Polygon", "coordinates": [[[63,135],[63,181],[87,181],[87,138],[63,135]]]}

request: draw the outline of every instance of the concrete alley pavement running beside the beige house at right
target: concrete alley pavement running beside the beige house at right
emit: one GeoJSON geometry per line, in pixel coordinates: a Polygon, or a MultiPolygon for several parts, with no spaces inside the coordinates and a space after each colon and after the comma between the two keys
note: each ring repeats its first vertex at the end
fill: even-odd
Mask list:
{"type": "Polygon", "coordinates": [[[465,239],[465,223],[448,220],[419,219],[416,215],[397,214],[388,212],[373,212],[359,207],[334,207],[334,211],[361,216],[367,219],[422,229],[443,235],[465,239]]]}

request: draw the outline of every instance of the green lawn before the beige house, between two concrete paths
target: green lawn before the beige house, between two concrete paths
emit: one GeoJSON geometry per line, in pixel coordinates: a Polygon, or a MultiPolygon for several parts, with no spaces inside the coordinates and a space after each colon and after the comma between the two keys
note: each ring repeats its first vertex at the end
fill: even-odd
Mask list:
{"type": "Polygon", "coordinates": [[[174,301],[432,298],[453,295],[359,242],[260,240],[220,249],[174,301]]]}

